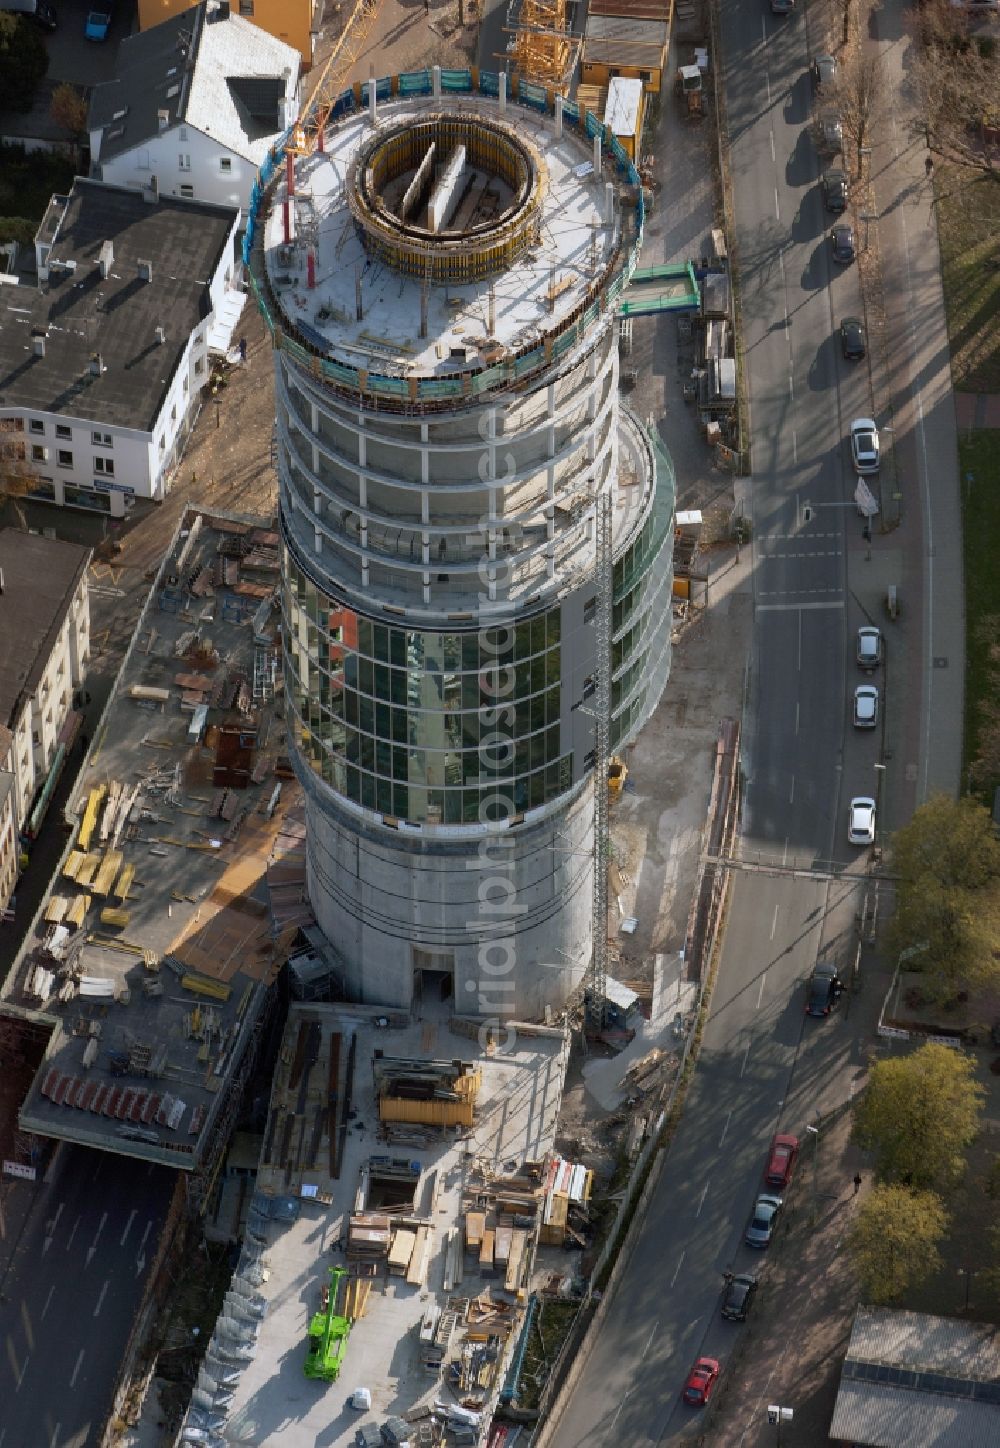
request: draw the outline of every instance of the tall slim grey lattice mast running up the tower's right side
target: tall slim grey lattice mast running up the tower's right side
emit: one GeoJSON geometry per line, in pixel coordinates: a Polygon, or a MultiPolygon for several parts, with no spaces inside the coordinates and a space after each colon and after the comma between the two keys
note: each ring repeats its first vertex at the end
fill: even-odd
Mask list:
{"type": "Polygon", "coordinates": [[[611,492],[598,498],[596,568],[598,607],[595,613],[595,699],[593,699],[593,957],[590,964],[590,1002],[605,1024],[608,996],[608,756],[611,740],[611,617],[614,573],[611,552],[611,492]]]}

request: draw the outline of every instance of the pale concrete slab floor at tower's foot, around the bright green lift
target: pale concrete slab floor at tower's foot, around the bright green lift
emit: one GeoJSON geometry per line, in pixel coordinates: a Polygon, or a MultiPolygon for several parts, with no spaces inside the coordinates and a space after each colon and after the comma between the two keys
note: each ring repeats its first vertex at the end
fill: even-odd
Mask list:
{"type": "MultiPolygon", "coordinates": [[[[553,1148],[556,1116],[563,1089],[567,1041],[556,1037],[518,1037],[511,1050],[483,1056],[475,1040],[453,1034],[449,1016],[424,1016],[410,1022],[376,1008],[352,1005],[292,1005],[282,1043],[271,1102],[272,1116],[284,1115],[302,1102],[302,1083],[292,1085],[300,1025],[317,1022],[321,1031],[317,1067],[307,1074],[304,1135],[314,1105],[326,1102],[329,1073],[323,1067],[330,1038],[340,1034],[346,1057],[355,1040],[352,1122],[343,1166],[337,1179],[329,1171],[329,1134],[323,1134],[313,1167],[288,1174],[274,1163],[278,1134],[265,1132],[265,1157],[258,1177],[260,1195],[294,1195],[302,1184],[315,1186],[317,1200],[301,1200],[294,1224],[271,1221],[263,1247],[266,1280],[259,1292],[266,1300],[253,1355],[240,1365],[240,1380],[232,1405],[226,1439],[242,1445],[274,1444],[281,1436],[287,1448],[347,1448],[360,1422],[382,1422],[389,1413],[405,1415],[415,1405],[438,1396],[450,1399],[437,1376],[421,1364],[418,1328],[430,1305],[444,1306],[443,1270],[447,1231],[460,1225],[463,1192],[475,1190],[483,1174],[512,1171],[525,1160],[537,1160],[553,1148]],[[378,1022],[384,1021],[385,1025],[378,1022]],[[372,1076],[375,1051],[417,1060],[475,1063],[482,1070],[475,1125],[457,1134],[449,1131],[436,1145],[386,1145],[379,1140],[378,1106],[372,1076]],[[330,1267],[344,1266],[340,1248],[363,1171],[375,1156],[389,1153],[420,1167],[414,1212],[433,1225],[433,1241],[424,1286],[410,1286],[402,1277],[386,1277],[379,1268],[372,1281],[363,1318],[352,1329],[342,1377],[336,1384],[305,1378],[302,1364],[310,1318],[320,1308],[320,1292],[330,1267]],[[476,1169],[480,1169],[479,1171],[476,1169]],[[436,1195],[431,1192],[431,1174],[436,1195]],[[329,1200],[321,1200],[327,1197],[329,1200]],[[347,1403],[356,1387],[372,1393],[369,1413],[356,1413],[347,1403]]],[[[292,1134],[289,1157],[300,1161],[292,1134]]],[[[465,1279],[453,1296],[472,1297],[489,1289],[496,1297],[502,1281],[479,1276],[466,1255],[465,1279]]]]}

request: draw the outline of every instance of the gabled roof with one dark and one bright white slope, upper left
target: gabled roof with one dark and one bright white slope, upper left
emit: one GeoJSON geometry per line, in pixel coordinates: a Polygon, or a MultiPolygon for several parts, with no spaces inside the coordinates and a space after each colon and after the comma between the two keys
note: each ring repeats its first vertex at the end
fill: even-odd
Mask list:
{"type": "Polygon", "coordinates": [[[90,101],[88,126],[103,132],[100,159],[191,126],[260,165],[282,130],[285,72],[294,90],[300,64],[294,46],[239,14],[221,19],[203,0],[122,41],[116,80],[97,85],[90,101]]]}

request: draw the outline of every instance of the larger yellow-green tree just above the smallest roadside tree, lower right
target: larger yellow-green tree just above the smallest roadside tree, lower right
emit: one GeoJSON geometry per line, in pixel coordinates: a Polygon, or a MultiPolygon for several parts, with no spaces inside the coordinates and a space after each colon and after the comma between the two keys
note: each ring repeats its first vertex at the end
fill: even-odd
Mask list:
{"type": "Polygon", "coordinates": [[[952,1186],[983,1111],[975,1061],[929,1043],[912,1056],[878,1061],[854,1109],[854,1140],[876,1158],[876,1173],[913,1187],[952,1186]]]}

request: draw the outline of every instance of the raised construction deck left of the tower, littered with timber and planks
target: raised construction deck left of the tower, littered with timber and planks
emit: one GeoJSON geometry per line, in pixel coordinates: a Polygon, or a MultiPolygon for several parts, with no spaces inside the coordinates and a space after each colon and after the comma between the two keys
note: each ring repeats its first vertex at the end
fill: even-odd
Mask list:
{"type": "Polygon", "coordinates": [[[268,886],[301,846],[278,578],[265,524],[191,510],[168,544],[4,985],[51,1032],[25,1131],[198,1180],[229,1140],[295,934],[268,886]]]}

